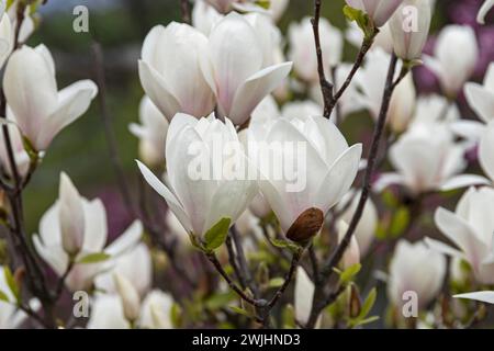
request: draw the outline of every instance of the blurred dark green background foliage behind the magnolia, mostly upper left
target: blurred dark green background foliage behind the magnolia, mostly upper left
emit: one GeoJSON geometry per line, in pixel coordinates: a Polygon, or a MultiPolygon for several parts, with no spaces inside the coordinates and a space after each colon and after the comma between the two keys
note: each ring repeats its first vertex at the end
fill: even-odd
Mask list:
{"type": "MultiPolygon", "coordinates": [[[[438,0],[433,31],[446,23],[446,12],[441,9],[450,2],[438,0]]],[[[324,16],[340,29],[346,26],[341,13],[344,3],[344,0],[324,1],[324,16]]],[[[311,15],[312,11],[312,1],[291,0],[280,21],[281,30],[285,32],[292,21],[311,15]]],[[[136,185],[137,139],[128,133],[127,126],[137,121],[138,103],[144,93],[137,59],[147,32],[156,24],[170,21],[180,21],[179,0],[48,0],[40,9],[40,27],[27,43],[32,46],[44,43],[52,50],[59,87],[78,79],[94,79],[91,44],[94,39],[102,44],[112,123],[125,172],[136,185]],[[72,30],[72,10],[78,4],[89,9],[90,33],[72,30]]],[[[355,53],[356,49],[347,44],[345,55],[349,60],[355,53]]],[[[363,121],[370,125],[370,118],[363,121]]],[[[351,127],[357,125],[353,123],[351,127]]],[[[348,124],[346,128],[349,128],[348,124]]],[[[29,233],[37,230],[41,216],[57,197],[60,171],[70,176],[85,196],[102,197],[109,211],[111,233],[121,233],[131,218],[124,216],[97,100],[80,120],[54,140],[29,185],[25,194],[29,233]]]]}

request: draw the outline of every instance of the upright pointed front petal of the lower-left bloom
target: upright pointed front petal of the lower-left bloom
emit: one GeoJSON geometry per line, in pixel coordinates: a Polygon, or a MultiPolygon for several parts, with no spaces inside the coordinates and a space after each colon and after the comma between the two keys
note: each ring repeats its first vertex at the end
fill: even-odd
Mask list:
{"type": "Polygon", "coordinates": [[[61,246],[74,254],[79,252],[85,240],[85,211],[82,199],[67,174],[60,174],[59,211],[61,246]]]}

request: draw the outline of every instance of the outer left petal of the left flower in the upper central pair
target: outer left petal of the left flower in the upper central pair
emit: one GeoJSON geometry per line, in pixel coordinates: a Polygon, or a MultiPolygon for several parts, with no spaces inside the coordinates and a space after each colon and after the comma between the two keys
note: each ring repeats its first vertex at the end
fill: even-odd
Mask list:
{"type": "Polygon", "coordinates": [[[180,111],[180,103],[170,92],[167,82],[156,69],[139,60],[139,78],[144,91],[161,113],[171,121],[180,111]]]}

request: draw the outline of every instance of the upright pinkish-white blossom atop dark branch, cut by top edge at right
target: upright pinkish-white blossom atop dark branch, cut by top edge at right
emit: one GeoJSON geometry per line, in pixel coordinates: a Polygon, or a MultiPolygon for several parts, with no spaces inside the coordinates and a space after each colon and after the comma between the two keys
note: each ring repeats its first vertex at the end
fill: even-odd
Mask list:
{"type": "Polygon", "coordinates": [[[418,59],[429,34],[433,9],[429,0],[405,0],[390,21],[394,52],[406,60],[418,59]],[[415,9],[411,13],[409,9],[415,9]],[[411,18],[411,15],[415,15],[411,18]],[[414,27],[415,26],[415,27],[414,27]]]}

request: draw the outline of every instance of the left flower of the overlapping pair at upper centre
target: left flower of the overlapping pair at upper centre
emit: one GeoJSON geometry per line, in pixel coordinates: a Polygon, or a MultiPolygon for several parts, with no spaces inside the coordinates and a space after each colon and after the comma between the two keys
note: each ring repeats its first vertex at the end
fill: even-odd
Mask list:
{"type": "Polygon", "coordinates": [[[168,121],[179,112],[201,117],[213,111],[214,95],[199,63],[206,49],[206,36],[188,24],[157,25],[147,34],[141,83],[168,121]]]}

